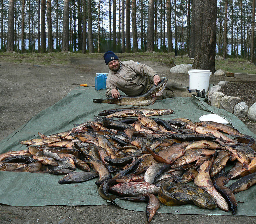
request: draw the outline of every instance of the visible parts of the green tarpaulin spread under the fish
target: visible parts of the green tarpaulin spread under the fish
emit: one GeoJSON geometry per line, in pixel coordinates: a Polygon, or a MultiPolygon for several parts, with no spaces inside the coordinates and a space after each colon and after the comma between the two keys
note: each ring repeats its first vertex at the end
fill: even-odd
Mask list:
{"type": "MultiPolygon", "coordinates": [[[[25,145],[19,144],[22,140],[38,137],[37,132],[54,134],[66,131],[93,119],[101,110],[118,108],[118,105],[95,104],[92,99],[105,98],[105,90],[96,91],[93,87],[78,87],[72,90],[66,97],[53,106],[41,111],[26,124],[6,137],[0,143],[0,153],[26,149],[25,145]]],[[[124,107],[124,106],[121,106],[124,107]]],[[[127,106],[129,107],[129,106],[127,106]]],[[[148,108],[171,108],[174,114],[161,116],[162,119],[177,117],[188,118],[193,122],[199,117],[211,112],[225,117],[232,125],[244,134],[256,138],[243,122],[233,114],[207,105],[197,97],[193,98],[169,98],[157,101],[148,108]]],[[[46,205],[107,205],[98,194],[95,180],[77,184],[61,185],[58,183],[61,176],[52,174],[0,172],[0,203],[11,206],[46,206],[46,205]]],[[[256,215],[255,186],[247,191],[236,195],[238,204],[237,215],[256,215]]],[[[145,211],[145,203],[134,203],[117,199],[116,203],[125,209],[145,211]]],[[[231,215],[218,208],[215,210],[202,209],[193,205],[163,206],[159,212],[180,214],[209,214],[231,215]]]]}

